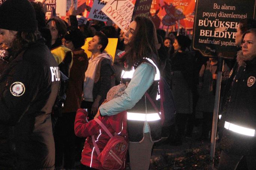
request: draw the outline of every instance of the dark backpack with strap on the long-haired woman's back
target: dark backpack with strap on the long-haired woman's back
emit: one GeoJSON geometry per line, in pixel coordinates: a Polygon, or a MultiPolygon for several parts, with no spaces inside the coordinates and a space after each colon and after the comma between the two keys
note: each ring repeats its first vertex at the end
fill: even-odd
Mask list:
{"type": "Polygon", "coordinates": [[[160,101],[161,101],[160,111],[156,107],[155,103],[153,102],[152,98],[149,96],[147,92],[146,92],[146,97],[149,99],[150,103],[155,108],[156,112],[159,113],[159,116],[162,121],[162,126],[168,127],[175,123],[176,108],[175,108],[171,88],[167,84],[165,79],[162,78],[161,76],[159,81],[159,93],[160,93],[160,101]]]}

